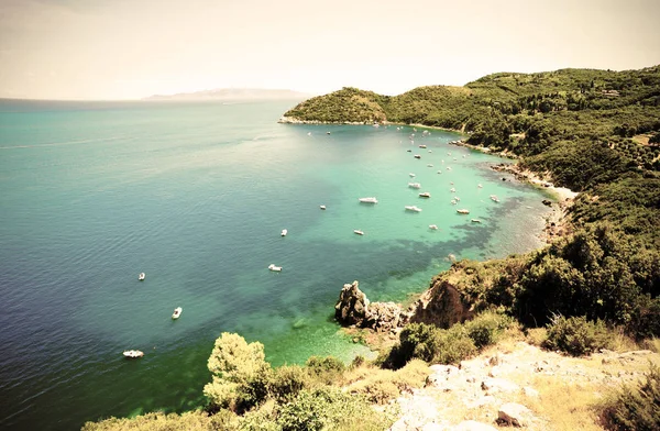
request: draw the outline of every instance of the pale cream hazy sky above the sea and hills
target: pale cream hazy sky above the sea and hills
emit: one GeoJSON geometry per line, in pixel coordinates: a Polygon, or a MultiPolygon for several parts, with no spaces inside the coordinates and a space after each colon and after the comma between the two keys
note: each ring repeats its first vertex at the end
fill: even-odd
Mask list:
{"type": "Polygon", "coordinates": [[[398,95],[660,64],[660,0],[0,0],[0,98],[398,95]]]}

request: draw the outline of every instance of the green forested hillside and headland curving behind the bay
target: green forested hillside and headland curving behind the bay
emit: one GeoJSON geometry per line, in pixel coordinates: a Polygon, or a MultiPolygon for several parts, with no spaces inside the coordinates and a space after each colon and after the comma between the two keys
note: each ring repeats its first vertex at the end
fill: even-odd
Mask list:
{"type": "Polygon", "coordinates": [[[575,209],[580,220],[612,220],[659,243],[660,230],[652,226],[660,225],[660,66],[501,73],[464,87],[419,87],[399,96],[343,88],[284,115],[462,130],[471,144],[506,150],[560,186],[590,190],[598,199],[583,198],[575,209]]]}

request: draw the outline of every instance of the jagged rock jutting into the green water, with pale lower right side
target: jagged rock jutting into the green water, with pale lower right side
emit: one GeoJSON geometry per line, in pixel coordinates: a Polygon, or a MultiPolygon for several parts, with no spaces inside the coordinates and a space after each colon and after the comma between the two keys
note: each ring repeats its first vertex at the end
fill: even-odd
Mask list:
{"type": "Polygon", "coordinates": [[[334,318],[345,327],[392,331],[405,325],[409,316],[395,302],[370,302],[359,283],[345,284],[334,306],[334,318]]]}

